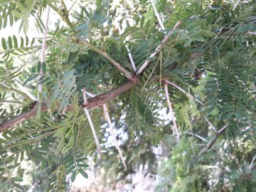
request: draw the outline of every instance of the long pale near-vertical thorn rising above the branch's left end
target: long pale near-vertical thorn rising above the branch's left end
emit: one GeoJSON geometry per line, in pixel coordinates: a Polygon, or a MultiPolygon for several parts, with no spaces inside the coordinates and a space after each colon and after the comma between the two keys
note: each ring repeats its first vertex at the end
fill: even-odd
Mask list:
{"type": "MultiPolygon", "coordinates": [[[[50,14],[50,6],[48,6],[47,16],[46,16],[46,31],[43,34],[43,43],[42,43],[42,50],[41,50],[41,68],[39,72],[39,80],[43,77],[43,63],[46,62],[46,37],[48,32],[48,22],[49,22],[49,14],[50,14]]],[[[43,85],[38,82],[38,100],[40,100],[40,95],[43,91],[43,85]]]]}

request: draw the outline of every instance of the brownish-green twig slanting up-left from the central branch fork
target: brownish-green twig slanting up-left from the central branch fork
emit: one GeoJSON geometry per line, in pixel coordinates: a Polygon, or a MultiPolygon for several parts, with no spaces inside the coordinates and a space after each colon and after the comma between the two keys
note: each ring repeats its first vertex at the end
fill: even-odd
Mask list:
{"type": "Polygon", "coordinates": [[[129,79],[129,80],[134,80],[134,75],[132,75],[132,73],[130,73],[128,70],[126,70],[125,68],[123,68],[116,60],[114,60],[112,57],[110,57],[110,55],[107,55],[107,53],[103,50],[100,50],[99,48],[93,46],[91,43],[87,42],[87,41],[83,41],[83,43],[88,46],[89,48],[91,48],[92,50],[94,50],[95,52],[99,53],[100,55],[102,55],[103,57],[105,57],[107,60],[110,61],[110,63],[112,63],[114,65],[115,68],[117,68],[121,73],[124,74],[124,76],[129,79]]]}

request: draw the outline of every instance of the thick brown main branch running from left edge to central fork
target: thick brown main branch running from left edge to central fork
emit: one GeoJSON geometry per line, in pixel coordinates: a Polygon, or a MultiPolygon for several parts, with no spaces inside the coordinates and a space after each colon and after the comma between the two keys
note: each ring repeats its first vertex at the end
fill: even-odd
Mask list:
{"type": "MultiPolygon", "coordinates": [[[[118,97],[123,92],[126,92],[127,90],[131,89],[132,87],[134,87],[138,83],[139,83],[139,79],[134,78],[134,80],[130,80],[129,82],[127,82],[126,84],[124,84],[120,87],[117,87],[113,90],[105,92],[104,94],[97,95],[96,97],[91,98],[90,100],[88,100],[85,107],[88,110],[92,110],[92,109],[95,109],[97,107],[100,107],[100,106],[104,105],[106,102],[114,99],[115,97],[118,97]]],[[[48,107],[46,106],[46,103],[43,102],[41,111],[46,112],[47,110],[48,110],[48,107]]],[[[72,110],[72,107],[68,106],[66,110],[67,111],[72,110]]],[[[19,124],[19,123],[33,117],[34,115],[36,115],[36,111],[37,111],[37,109],[36,109],[36,106],[35,106],[31,110],[29,110],[28,112],[23,112],[22,114],[17,115],[13,119],[9,119],[6,122],[1,123],[0,124],[0,133],[4,132],[7,129],[10,129],[11,127],[14,127],[16,124],[19,124]]]]}

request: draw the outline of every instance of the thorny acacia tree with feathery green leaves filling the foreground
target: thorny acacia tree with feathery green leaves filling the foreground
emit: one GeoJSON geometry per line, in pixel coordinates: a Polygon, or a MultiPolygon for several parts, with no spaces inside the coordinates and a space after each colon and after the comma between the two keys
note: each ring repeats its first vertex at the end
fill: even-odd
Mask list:
{"type": "Polygon", "coordinates": [[[213,171],[198,167],[216,163],[218,141],[220,149],[228,141],[235,150],[247,149],[238,160],[245,160],[246,181],[255,185],[255,1],[120,5],[1,2],[1,28],[21,21],[26,33],[33,18],[43,34],[1,38],[1,187],[26,190],[18,183],[22,178],[10,174],[24,155],[55,168],[49,191],[64,191],[68,175],[71,181],[77,174],[87,177],[88,156],[103,166],[116,163],[112,168],[124,178],[139,164],[153,165],[152,147],[169,135],[175,146],[167,156],[174,169],[164,173],[176,174],[160,171],[168,183],[160,190],[216,189],[206,181],[213,171]],[[60,20],[48,30],[49,11],[60,20]],[[21,57],[27,61],[16,65],[21,57]],[[159,114],[165,109],[169,119],[159,114]],[[118,138],[114,129],[122,130],[118,138]]]}

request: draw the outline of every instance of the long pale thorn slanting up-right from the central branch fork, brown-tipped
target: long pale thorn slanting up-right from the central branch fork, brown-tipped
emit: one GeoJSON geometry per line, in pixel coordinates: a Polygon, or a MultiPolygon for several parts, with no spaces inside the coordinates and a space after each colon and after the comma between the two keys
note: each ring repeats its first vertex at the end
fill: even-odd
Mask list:
{"type": "Polygon", "coordinates": [[[166,43],[166,41],[169,39],[169,37],[172,35],[172,33],[174,33],[174,30],[176,28],[178,28],[178,26],[181,25],[181,21],[178,21],[174,28],[172,28],[172,30],[164,37],[164,39],[161,41],[161,44],[159,46],[156,47],[156,49],[154,50],[154,53],[151,53],[151,55],[149,55],[149,58],[147,58],[145,60],[145,62],[143,63],[142,67],[139,68],[139,70],[137,71],[137,75],[139,75],[140,73],[142,73],[142,71],[146,68],[147,65],[149,65],[150,59],[154,58],[154,56],[156,55],[156,53],[159,53],[159,51],[161,50],[161,48],[163,47],[163,44],[166,43]]]}

